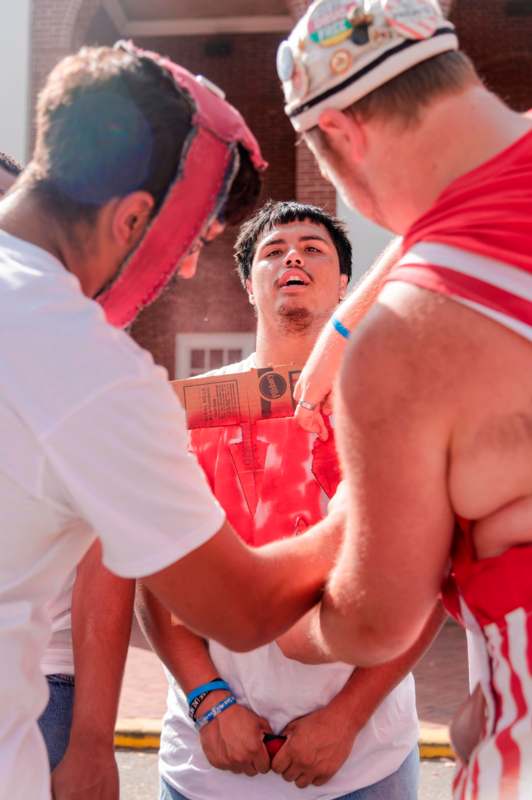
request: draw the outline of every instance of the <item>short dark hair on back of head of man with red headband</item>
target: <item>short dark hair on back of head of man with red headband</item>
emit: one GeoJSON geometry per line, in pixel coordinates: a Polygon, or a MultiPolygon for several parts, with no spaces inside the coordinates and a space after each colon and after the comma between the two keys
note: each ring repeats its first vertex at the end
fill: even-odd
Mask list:
{"type": "Polygon", "coordinates": [[[144,190],[161,205],[192,125],[192,106],[150,58],[83,47],[50,73],[37,103],[28,179],[70,222],[144,190]]]}

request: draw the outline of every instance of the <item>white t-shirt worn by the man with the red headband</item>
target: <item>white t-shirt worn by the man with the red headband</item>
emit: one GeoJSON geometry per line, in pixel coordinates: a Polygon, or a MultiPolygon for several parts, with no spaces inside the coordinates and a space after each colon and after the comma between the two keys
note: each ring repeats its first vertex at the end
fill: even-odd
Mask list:
{"type": "Polygon", "coordinates": [[[223,524],[165,371],[49,253],[0,231],[0,796],[48,800],[49,603],[95,537],[147,575],[223,524]]]}

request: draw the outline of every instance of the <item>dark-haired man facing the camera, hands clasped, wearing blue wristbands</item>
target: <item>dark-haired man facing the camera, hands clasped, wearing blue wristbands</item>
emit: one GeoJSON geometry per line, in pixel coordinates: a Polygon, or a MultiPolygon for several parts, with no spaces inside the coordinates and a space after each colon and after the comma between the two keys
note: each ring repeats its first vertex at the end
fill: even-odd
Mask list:
{"type": "MultiPolygon", "coordinates": [[[[304,363],[351,275],[343,225],[315,206],[269,201],[242,226],[235,257],[257,314],[257,349],[245,361],[208,374],[304,363]]],[[[331,491],[328,480],[336,466],[325,475],[318,465],[336,465],[332,437],[320,443],[293,418],[258,420],[254,428],[262,454],[256,510],[231,471],[238,429],[191,431],[191,445],[244,541],[258,546],[303,534],[303,542],[331,491]]],[[[235,653],[172,625],[150,593],[143,594],[146,631],[169,670],[161,800],[288,800],[303,788],[311,800],[417,797],[417,718],[408,671],[438,620],[402,658],[353,671],[340,663],[298,664],[277,643],[235,653]],[[211,708],[232,696],[237,702],[195,730],[194,720],[201,726],[211,708]],[[286,741],[270,764],[263,740],[273,734],[286,741]]]]}

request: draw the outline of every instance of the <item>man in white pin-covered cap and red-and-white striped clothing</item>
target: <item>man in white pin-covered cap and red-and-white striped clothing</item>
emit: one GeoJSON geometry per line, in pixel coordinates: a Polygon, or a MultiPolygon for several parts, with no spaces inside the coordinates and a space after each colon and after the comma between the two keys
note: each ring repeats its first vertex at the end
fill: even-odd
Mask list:
{"type": "Polygon", "coordinates": [[[299,416],[319,429],[351,338],[335,408],[346,541],[323,601],[284,646],[384,661],[415,641],[443,592],[469,631],[481,709],[458,728],[456,797],[522,800],[532,120],[457,48],[436,0],[319,0],[279,50],[287,114],[322,173],[402,237],[332,318],[298,387],[299,416]]]}

